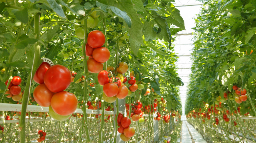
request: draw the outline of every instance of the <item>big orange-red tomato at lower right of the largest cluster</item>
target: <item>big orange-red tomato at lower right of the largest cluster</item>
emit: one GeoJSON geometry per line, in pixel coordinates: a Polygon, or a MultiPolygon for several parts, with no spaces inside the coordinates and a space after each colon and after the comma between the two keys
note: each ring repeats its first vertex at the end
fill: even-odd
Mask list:
{"type": "Polygon", "coordinates": [[[53,95],[51,106],[55,113],[67,116],[75,112],[77,107],[77,98],[73,93],[61,91],[53,95]]]}

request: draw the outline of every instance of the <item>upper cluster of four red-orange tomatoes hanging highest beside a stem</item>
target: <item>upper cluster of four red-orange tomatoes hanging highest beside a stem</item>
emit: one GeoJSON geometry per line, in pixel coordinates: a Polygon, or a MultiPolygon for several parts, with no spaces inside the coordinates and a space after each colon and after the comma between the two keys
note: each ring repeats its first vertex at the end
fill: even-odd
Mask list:
{"type": "Polygon", "coordinates": [[[103,63],[108,61],[110,52],[108,48],[101,47],[105,43],[105,35],[94,30],[88,34],[85,46],[85,54],[89,56],[87,60],[88,71],[91,73],[99,73],[103,69],[103,63]]]}

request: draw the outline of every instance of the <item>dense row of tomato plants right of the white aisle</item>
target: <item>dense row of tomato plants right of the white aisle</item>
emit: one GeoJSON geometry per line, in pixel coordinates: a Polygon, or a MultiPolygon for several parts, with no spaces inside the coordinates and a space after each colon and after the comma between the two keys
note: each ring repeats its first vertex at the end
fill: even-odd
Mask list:
{"type": "Polygon", "coordinates": [[[202,2],[205,8],[195,19],[186,115],[208,141],[255,141],[255,126],[250,125],[255,120],[243,118],[256,116],[256,5],[240,0],[202,2]]]}

